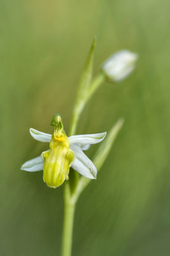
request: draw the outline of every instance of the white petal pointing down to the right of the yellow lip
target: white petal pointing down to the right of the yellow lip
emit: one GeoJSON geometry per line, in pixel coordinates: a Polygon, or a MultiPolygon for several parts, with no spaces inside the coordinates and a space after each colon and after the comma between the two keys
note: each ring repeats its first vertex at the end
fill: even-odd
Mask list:
{"type": "Polygon", "coordinates": [[[94,163],[83,153],[78,145],[69,145],[69,148],[74,151],[74,161],[71,167],[81,175],[96,179],[97,169],[94,163]]]}

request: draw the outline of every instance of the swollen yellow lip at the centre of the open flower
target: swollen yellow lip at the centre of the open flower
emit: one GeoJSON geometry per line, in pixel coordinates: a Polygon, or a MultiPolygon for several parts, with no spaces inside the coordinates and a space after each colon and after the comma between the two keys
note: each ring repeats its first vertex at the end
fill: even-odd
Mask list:
{"type": "Polygon", "coordinates": [[[74,152],[69,149],[69,140],[63,125],[57,127],[50,141],[50,150],[43,152],[43,180],[50,188],[59,187],[64,180],[69,179],[69,168],[74,160],[74,152]]]}

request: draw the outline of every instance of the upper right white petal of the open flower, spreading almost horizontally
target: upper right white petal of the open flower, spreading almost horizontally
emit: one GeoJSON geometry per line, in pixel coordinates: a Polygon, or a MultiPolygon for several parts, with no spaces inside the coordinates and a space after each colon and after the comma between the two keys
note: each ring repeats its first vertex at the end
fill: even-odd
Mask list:
{"type": "Polygon", "coordinates": [[[96,133],[96,134],[83,134],[83,135],[74,135],[69,137],[69,144],[78,144],[82,150],[84,146],[87,148],[89,144],[96,144],[104,140],[107,132],[96,133]]]}

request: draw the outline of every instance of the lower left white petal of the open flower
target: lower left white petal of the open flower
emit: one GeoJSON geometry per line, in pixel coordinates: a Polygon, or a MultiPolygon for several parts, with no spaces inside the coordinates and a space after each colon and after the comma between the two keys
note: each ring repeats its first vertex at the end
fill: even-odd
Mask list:
{"type": "Polygon", "coordinates": [[[21,170],[24,170],[27,172],[38,172],[43,170],[43,164],[44,164],[44,161],[42,157],[38,156],[22,164],[21,170]]]}

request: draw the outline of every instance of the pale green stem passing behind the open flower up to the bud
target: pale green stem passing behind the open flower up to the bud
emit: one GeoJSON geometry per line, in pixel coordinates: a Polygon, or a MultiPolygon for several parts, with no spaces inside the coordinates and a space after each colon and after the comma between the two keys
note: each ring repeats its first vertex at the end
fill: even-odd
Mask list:
{"type": "MultiPolygon", "coordinates": [[[[92,84],[90,84],[87,95],[85,95],[85,97],[81,97],[80,95],[78,95],[78,98],[76,99],[76,104],[73,109],[73,115],[71,118],[71,129],[69,132],[69,136],[73,136],[75,134],[78,121],[80,119],[81,112],[85,107],[85,104],[87,104],[90,97],[92,97],[94,92],[96,92],[97,88],[99,88],[103,81],[104,75],[102,73],[99,73],[99,75],[96,76],[94,81],[92,81],[92,84]]],[[[74,211],[76,201],[78,200],[78,196],[80,195],[81,191],[81,182],[77,183],[73,195],[71,195],[71,189],[69,188],[69,180],[64,183],[64,227],[62,234],[62,256],[71,256],[74,211]]]]}

